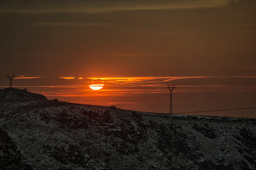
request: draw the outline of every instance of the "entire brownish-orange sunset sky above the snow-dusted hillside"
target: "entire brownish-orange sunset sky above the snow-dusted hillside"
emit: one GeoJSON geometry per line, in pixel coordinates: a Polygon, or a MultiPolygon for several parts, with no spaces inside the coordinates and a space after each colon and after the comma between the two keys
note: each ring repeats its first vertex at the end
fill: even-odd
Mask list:
{"type": "Polygon", "coordinates": [[[255,0],[0,0],[0,88],[143,112],[256,117],[255,0]],[[102,84],[101,90],[89,85],[102,84]]]}

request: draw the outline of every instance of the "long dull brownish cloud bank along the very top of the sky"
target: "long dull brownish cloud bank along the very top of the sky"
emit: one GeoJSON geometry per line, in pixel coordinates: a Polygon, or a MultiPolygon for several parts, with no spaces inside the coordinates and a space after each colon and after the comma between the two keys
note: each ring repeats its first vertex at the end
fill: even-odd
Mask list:
{"type": "Polygon", "coordinates": [[[30,12],[30,13],[54,13],[54,12],[111,12],[118,10],[140,9],[189,9],[222,7],[227,1],[195,0],[195,1],[1,1],[0,12],[30,12]]]}

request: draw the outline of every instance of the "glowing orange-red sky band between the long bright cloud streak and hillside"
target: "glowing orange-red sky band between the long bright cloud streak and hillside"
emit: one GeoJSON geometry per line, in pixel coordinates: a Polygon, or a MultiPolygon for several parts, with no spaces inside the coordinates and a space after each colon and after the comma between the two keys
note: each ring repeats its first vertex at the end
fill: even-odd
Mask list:
{"type": "MultiPolygon", "coordinates": [[[[169,112],[170,91],[167,85],[175,84],[173,112],[179,113],[255,107],[255,79],[256,77],[42,77],[31,79],[30,83],[29,79],[16,79],[12,84],[16,88],[27,88],[41,93],[48,99],[58,98],[60,101],[80,104],[115,105],[121,109],[143,112],[169,112]],[[50,80],[54,85],[45,83],[50,80]],[[33,82],[35,85],[27,85],[33,82]],[[39,85],[42,83],[45,85],[39,85]],[[89,88],[89,85],[99,83],[104,85],[101,90],[89,88]]],[[[200,115],[255,117],[254,112],[255,109],[246,109],[236,112],[206,112],[200,115]]]]}

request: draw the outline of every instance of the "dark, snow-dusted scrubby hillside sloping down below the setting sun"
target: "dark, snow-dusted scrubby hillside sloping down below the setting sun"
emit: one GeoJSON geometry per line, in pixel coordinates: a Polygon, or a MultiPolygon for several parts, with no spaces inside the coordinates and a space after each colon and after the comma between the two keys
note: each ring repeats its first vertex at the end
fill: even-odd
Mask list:
{"type": "Polygon", "coordinates": [[[256,169],[255,119],[0,97],[0,169],[256,169]]]}

